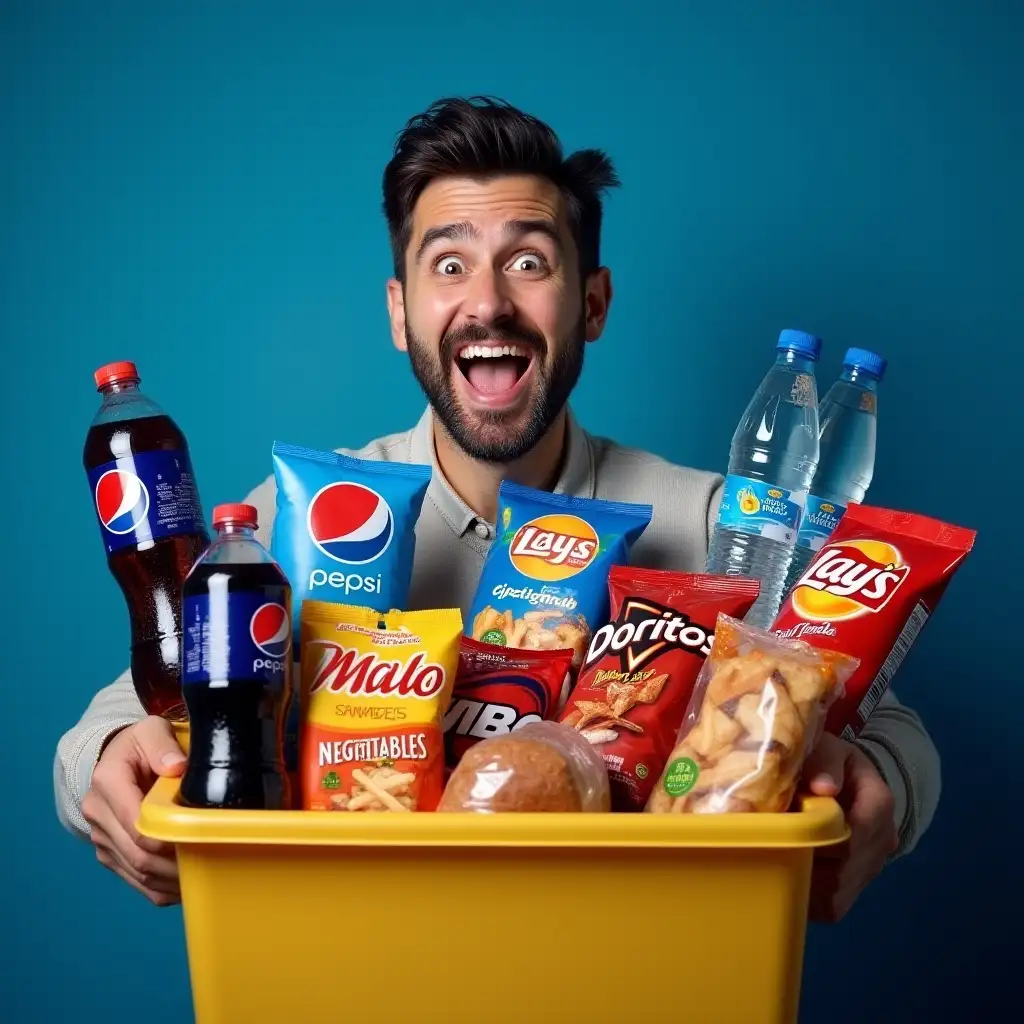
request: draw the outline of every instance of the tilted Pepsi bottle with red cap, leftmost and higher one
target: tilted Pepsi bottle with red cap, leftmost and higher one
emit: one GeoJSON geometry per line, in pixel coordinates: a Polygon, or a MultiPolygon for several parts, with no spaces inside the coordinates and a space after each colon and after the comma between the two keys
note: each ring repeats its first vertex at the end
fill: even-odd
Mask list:
{"type": "Polygon", "coordinates": [[[210,541],[188,445],[139,390],[133,362],[94,378],[102,403],[84,462],[106,564],[128,605],[132,681],[148,714],[181,720],[181,584],[210,541]]]}

